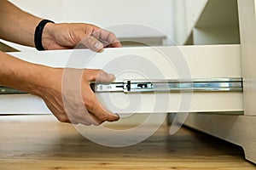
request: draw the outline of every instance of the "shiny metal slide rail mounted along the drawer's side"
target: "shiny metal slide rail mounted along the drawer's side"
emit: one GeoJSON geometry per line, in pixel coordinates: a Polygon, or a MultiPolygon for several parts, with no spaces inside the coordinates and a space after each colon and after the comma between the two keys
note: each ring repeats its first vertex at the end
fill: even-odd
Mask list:
{"type": "MultiPolygon", "coordinates": [[[[152,92],[241,92],[242,78],[207,78],[190,80],[125,80],[124,82],[90,84],[96,93],[152,93],[152,92]]],[[[0,86],[0,94],[25,94],[0,86]]]]}

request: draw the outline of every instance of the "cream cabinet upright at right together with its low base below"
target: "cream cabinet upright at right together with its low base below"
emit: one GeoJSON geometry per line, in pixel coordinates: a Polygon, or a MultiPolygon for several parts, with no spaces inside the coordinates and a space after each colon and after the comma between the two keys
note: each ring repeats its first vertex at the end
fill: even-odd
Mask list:
{"type": "Polygon", "coordinates": [[[240,145],[248,161],[256,163],[255,110],[255,1],[238,0],[241,31],[241,65],[244,78],[244,115],[190,113],[186,126],[240,145]]]}

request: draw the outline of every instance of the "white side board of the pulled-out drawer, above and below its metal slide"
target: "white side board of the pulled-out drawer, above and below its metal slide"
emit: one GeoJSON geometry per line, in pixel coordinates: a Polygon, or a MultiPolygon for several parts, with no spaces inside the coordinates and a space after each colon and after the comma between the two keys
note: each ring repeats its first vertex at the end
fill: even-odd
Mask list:
{"type": "MultiPolygon", "coordinates": [[[[127,79],[184,79],[241,77],[239,45],[109,48],[11,53],[33,63],[55,67],[96,68],[127,79]]],[[[96,93],[103,105],[117,113],[243,111],[242,92],[212,93],[96,93]]],[[[44,101],[30,94],[0,95],[0,114],[50,113],[44,101]]]]}

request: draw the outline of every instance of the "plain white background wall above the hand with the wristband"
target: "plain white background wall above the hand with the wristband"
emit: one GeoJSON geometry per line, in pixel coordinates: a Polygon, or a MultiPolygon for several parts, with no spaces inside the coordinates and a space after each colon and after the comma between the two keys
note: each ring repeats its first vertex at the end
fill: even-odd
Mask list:
{"type": "Polygon", "coordinates": [[[172,35],[172,1],[170,0],[10,0],[10,2],[27,12],[55,22],[95,24],[114,31],[118,37],[172,35]],[[124,24],[135,25],[121,26],[124,24]]]}

